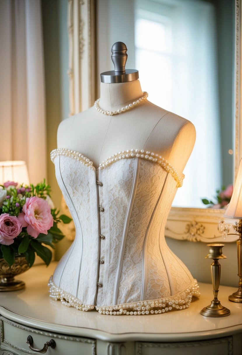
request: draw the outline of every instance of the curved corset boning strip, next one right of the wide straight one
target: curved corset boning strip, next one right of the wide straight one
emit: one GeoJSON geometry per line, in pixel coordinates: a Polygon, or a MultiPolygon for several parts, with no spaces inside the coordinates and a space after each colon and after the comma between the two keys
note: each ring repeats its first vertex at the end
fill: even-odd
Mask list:
{"type": "MultiPolygon", "coordinates": [[[[161,189],[160,196],[158,197],[158,200],[156,201],[155,208],[153,209],[152,215],[149,220],[149,224],[145,233],[144,237],[144,244],[143,244],[143,253],[142,253],[142,286],[141,286],[141,300],[145,300],[145,294],[146,294],[146,285],[147,285],[147,246],[148,246],[148,240],[149,240],[149,234],[150,230],[152,228],[154,218],[156,216],[156,212],[159,208],[161,199],[163,197],[163,192],[165,191],[166,185],[167,185],[167,180],[168,180],[169,174],[166,173],[164,185],[161,189]]],[[[162,225],[162,223],[161,223],[162,225]]]]}

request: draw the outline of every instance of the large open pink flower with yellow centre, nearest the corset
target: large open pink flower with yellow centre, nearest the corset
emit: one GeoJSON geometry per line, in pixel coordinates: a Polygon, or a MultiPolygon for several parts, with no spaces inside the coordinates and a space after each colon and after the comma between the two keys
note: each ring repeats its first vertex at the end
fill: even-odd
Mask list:
{"type": "Polygon", "coordinates": [[[23,205],[23,213],[18,214],[22,227],[27,227],[27,232],[34,238],[39,233],[47,234],[53,226],[54,220],[50,213],[50,206],[40,197],[27,197],[23,205]]]}

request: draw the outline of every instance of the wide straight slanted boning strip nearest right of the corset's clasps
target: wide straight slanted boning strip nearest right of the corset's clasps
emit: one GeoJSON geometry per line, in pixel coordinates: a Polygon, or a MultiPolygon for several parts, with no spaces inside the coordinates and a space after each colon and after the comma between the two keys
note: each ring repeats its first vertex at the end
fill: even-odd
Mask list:
{"type": "Polygon", "coordinates": [[[120,276],[121,276],[121,270],[122,270],[122,264],[123,264],[123,256],[124,256],[124,252],[125,252],[125,245],[126,245],[126,239],[127,239],[127,235],[128,235],[128,227],[130,224],[130,217],[131,217],[134,199],[135,199],[136,191],[137,191],[137,185],[138,185],[138,179],[139,179],[139,169],[140,169],[140,159],[135,158],[133,181],[132,181],[132,186],[131,186],[131,191],[130,191],[130,197],[128,200],[125,222],[123,225],[123,233],[122,233],[122,239],[121,239],[121,245],[120,245],[119,259],[118,259],[117,271],[116,271],[115,282],[114,282],[114,295],[113,295],[113,301],[112,301],[114,305],[117,304],[120,276]]]}

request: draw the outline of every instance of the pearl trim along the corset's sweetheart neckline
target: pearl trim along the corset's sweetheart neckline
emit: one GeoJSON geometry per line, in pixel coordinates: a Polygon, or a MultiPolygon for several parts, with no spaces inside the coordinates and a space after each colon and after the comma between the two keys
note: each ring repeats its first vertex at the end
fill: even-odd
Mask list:
{"type": "MultiPolygon", "coordinates": [[[[80,161],[82,164],[88,166],[92,170],[96,170],[95,167],[93,166],[93,162],[90,161],[87,157],[84,157],[83,154],[66,149],[66,148],[57,148],[54,149],[50,153],[50,159],[54,163],[55,158],[58,155],[64,155],[65,157],[70,157],[72,159],[80,161]]],[[[171,176],[176,180],[177,182],[177,187],[182,186],[182,178],[184,175],[181,176],[178,175],[176,169],[170,165],[167,160],[161,157],[161,155],[155,154],[155,153],[150,153],[150,152],[145,152],[143,149],[127,149],[126,151],[118,152],[114,155],[111,155],[108,157],[108,159],[104,160],[101,164],[99,164],[99,170],[106,168],[107,166],[110,166],[111,164],[115,163],[117,160],[120,159],[130,159],[130,158],[141,158],[145,160],[150,160],[151,162],[158,164],[163,168],[167,173],[170,173],[171,176]]]]}

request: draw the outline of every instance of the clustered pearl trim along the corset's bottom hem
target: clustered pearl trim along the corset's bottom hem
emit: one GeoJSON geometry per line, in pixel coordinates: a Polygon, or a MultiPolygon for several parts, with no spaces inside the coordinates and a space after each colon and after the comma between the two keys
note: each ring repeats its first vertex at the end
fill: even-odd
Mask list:
{"type": "Polygon", "coordinates": [[[115,306],[94,306],[83,304],[76,297],[68,294],[64,290],[60,289],[53,282],[53,277],[50,277],[48,286],[50,286],[50,297],[55,301],[60,300],[62,304],[67,307],[75,307],[77,310],[89,311],[94,308],[104,315],[119,316],[126,315],[148,315],[148,314],[160,314],[166,313],[172,310],[183,310],[190,306],[192,296],[200,296],[199,286],[197,280],[194,279],[191,285],[184,291],[177,295],[165,297],[157,300],[147,300],[119,304],[115,306]]]}

